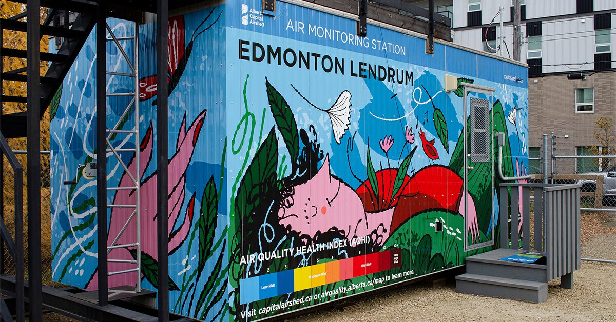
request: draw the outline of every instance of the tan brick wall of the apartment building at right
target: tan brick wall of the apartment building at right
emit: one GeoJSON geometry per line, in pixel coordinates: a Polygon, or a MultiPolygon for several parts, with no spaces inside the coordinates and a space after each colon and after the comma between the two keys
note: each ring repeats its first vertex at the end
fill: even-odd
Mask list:
{"type": "MultiPolygon", "coordinates": [[[[584,81],[570,81],[567,75],[529,79],[530,147],[540,147],[541,135],[554,132],[556,155],[575,155],[576,147],[597,145],[595,121],[600,117],[615,119],[616,132],[616,73],[597,73],[584,81]],[[586,87],[594,87],[594,113],[575,113],[575,89],[586,87]]],[[[555,170],[575,173],[575,159],[559,159],[555,170]]]]}

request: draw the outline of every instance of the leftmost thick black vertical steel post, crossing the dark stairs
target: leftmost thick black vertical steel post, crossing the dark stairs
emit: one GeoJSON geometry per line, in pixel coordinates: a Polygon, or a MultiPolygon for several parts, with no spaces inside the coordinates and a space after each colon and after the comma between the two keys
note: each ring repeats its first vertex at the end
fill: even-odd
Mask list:
{"type": "Polygon", "coordinates": [[[26,150],[28,150],[28,299],[30,320],[43,320],[41,296],[41,2],[28,0],[26,28],[28,96],[26,150]]]}

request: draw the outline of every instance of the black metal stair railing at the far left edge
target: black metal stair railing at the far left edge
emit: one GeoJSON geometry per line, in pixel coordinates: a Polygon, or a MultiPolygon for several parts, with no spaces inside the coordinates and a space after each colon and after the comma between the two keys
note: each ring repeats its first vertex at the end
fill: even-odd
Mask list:
{"type": "MultiPolygon", "coordinates": [[[[0,133],[0,165],[4,168],[4,158],[2,155],[5,155],[9,160],[9,165],[12,167],[15,180],[14,180],[14,201],[15,201],[15,240],[13,240],[12,236],[10,236],[9,229],[6,227],[4,223],[4,204],[0,207],[0,235],[2,236],[2,241],[6,243],[7,248],[9,249],[10,255],[13,257],[15,262],[15,313],[17,315],[17,321],[24,321],[25,315],[25,304],[24,304],[24,288],[23,288],[23,167],[15,158],[15,154],[9,147],[9,143],[4,139],[4,135],[0,133]]],[[[2,169],[2,177],[4,177],[4,169],[2,169]]],[[[0,179],[0,190],[4,192],[4,179],[0,179]]],[[[4,199],[4,194],[1,194],[2,199],[4,199]]],[[[4,200],[0,200],[1,203],[4,203],[4,200]]],[[[0,265],[4,265],[4,263],[0,263],[0,265]]],[[[4,301],[4,299],[2,299],[4,301]]],[[[0,312],[4,321],[12,320],[10,318],[10,313],[7,313],[6,305],[4,303],[0,304],[0,312]],[[6,316],[8,315],[8,317],[6,316]]]]}

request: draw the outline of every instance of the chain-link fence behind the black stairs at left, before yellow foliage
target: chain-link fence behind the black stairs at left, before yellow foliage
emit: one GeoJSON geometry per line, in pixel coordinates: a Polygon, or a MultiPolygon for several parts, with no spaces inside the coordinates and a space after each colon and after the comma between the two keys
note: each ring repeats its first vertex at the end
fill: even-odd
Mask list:
{"type": "MultiPolygon", "coordinates": [[[[25,268],[25,276],[28,275],[28,208],[27,208],[27,180],[26,175],[28,173],[28,169],[26,168],[26,152],[25,151],[14,151],[15,157],[20,164],[23,166],[23,260],[24,260],[24,268],[25,268]]],[[[43,276],[43,284],[49,285],[52,284],[51,280],[51,190],[50,190],[50,171],[49,171],[49,151],[41,152],[41,274],[43,276]]],[[[4,180],[4,190],[3,193],[3,204],[4,204],[4,222],[6,223],[7,229],[10,232],[11,236],[15,236],[15,191],[14,191],[14,172],[10,168],[10,165],[6,159],[4,158],[4,169],[3,169],[3,180],[4,180]]],[[[39,215],[39,214],[35,214],[39,215]]],[[[3,261],[3,269],[6,274],[14,275],[15,274],[15,262],[10,256],[9,249],[6,244],[2,244],[2,261],[3,261]]]]}

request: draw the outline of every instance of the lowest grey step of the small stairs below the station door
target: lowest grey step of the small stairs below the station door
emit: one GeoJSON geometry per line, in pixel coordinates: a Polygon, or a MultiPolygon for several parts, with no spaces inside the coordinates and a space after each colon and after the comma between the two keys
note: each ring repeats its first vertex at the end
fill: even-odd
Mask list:
{"type": "Polygon", "coordinates": [[[456,292],[541,303],[548,299],[548,283],[466,273],[456,276],[456,292]]]}

